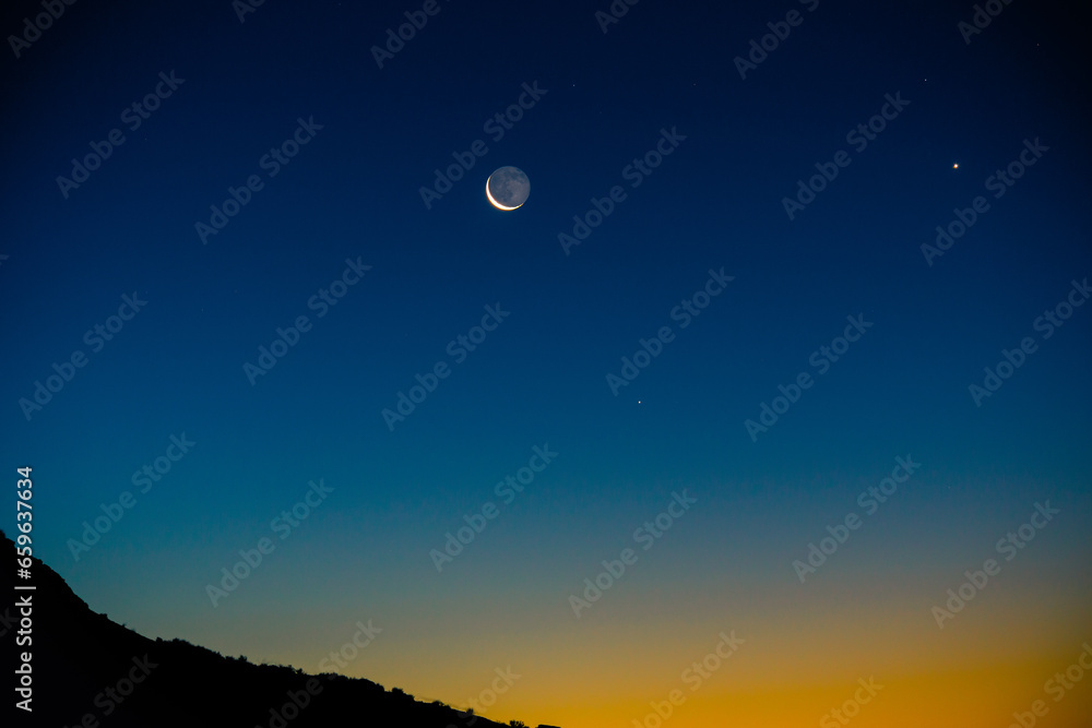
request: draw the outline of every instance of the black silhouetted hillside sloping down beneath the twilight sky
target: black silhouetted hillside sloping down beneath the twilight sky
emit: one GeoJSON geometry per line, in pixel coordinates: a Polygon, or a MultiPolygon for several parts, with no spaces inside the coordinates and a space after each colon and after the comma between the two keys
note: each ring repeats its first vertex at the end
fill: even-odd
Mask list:
{"type": "MultiPolygon", "coordinates": [[[[15,544],[3,532],[0,532],[0,545],[4,553],[14,557],[15,544]]],[[[4,652],[13,655],[16,661],[5,671],[11,682],[4,685],[4,691],[12,694],[19,655],[27,649],[33,654],[34,681],[33,714],[16,709],[16,725],[49,728],[470,726],[471,717],[453,708],[415,701],[408,694],[387,691],[369,680],[309,676],[290,667],[251,665],[224,657],[183,640],[150,640],[92,611],[57,572],[38,559],[33,560],[29,580],[36,589],[15,592],[17,580],[12,561],[2,570],[5,596],[0,613],[0,639],[4,652]],[[33,642],[29,646],[16,646],[21,616],[14,605],[25,595],[32,595],[33,642]],[[296,708],[297,704],[304,707],[296,708]]],[[[480,717],[473,723],[474,728],[499,726],[480,717]]]]}

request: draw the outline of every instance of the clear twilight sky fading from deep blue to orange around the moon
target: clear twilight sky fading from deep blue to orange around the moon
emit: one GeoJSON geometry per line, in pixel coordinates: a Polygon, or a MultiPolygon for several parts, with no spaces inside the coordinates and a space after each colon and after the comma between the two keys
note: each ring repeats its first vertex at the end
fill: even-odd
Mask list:
{"type": "MultiPolygon", "coordinates": [[[[12,4],[5,36],[40,12],[12,4]]],[[[1085,725],[1090,681],[1058,702],[1045,683],[1092,644],[1092,306],[1040,317],[1092,276],[1087,40],[1067,3],[996,4],[965,43],[970,2],[617,2],[604,33],[607,0],[440,0],[382,68],[372,46],[420,2],[268,0],[244,22],[228,0],[66,7],[3,61],[0,460],[34,467],[35,554],[118,622],[253,661],[319,671],[371,620],[339,671],[465,707],[510,666],[479,708],[503,721],[653,728],[650,703],[679,690],[670,728],[843,725],[830,711],[875,678],[854,726],[1005,726],[1035,700],[1052,728],[1085,725]],[[741,79],[734,59],[790,11],[741,79]],[[166,93],[161,74],[181,81],[123,115],[166,93]],[[485,124],[524,84],[543,91],[497,139],[485,124]],[[866,145],[847,140],[885,109],[866,145]],[[321,129],[270,176],[300,119],[321,129]],[[62,192],[111,129],[123,143],[62,192]],[[662,130],[670,154],[627,171],[662,130]],[[426,206],[419,189],[476,140],[486,153],[426,206]],[[840,151],[790,218],[782,200],[840,151]],[[484,194],[506,165],[532,186],[514,212],[484,194]],[[203,244],[195,223],[251,175],[261,189],[203,244]],[[625,199],[565,250],[615,186],[625,199]],[[978,195],[988,210],[927,260],[978,195]],[[370,270],[323,310],[346,260],[370,270]],[[684,327],[673,309],[722,270],[684,327]],[[99,343],[126,296],[146,303],[99,343]],[[509,314],[449,347],[486,307],[509,314]],[[301,315],[251,384],[245,362],[301,315]],[[871,325],[822,363],[847,317],[871,325]],[[607,374],[664,326],[615,395],[607,374]],[[976,406],[969,385],[1025,337],[976,406]],[[24,414],[76,350],[85,366],[24,414]],[[388,427],[438,362],[449,375],[388,427]],[[752,439],[745,421],[802,372],[810,389],[752,439]],[[142,492],[134,472],[183,433],[195,444],[142,492]],[[897,457],[921,467],[869,513],[858,494],[897,457]],[[320,479],[306,520],[271,523],[320,479]],[[1006,561],[998,540],[1047,501],[1006,561]],[[430,551],[487,502],[496,517],[438,573],[430,551]],[[802,583],[793,562],[851,513],[859,528],[802,583]],[[263,537],[275,549],[214,607],[206,585],[263,537]],[[1000,572],[938,628],[933,608],[990,558],[1000,572]]]]}

